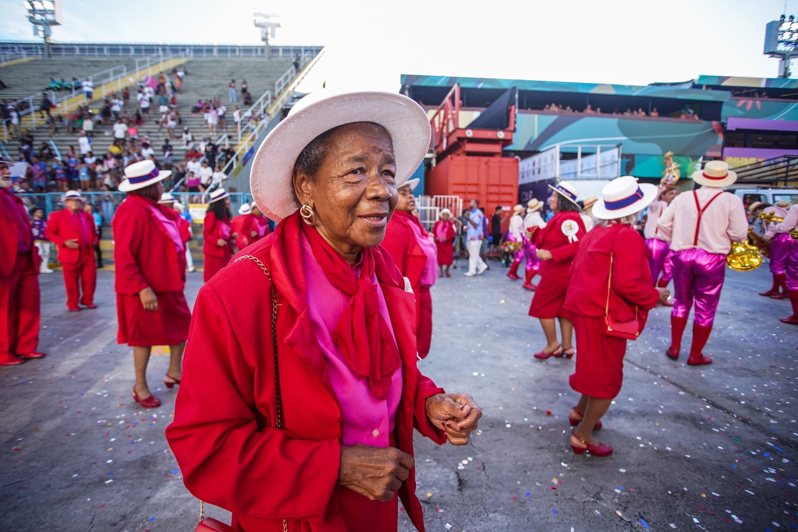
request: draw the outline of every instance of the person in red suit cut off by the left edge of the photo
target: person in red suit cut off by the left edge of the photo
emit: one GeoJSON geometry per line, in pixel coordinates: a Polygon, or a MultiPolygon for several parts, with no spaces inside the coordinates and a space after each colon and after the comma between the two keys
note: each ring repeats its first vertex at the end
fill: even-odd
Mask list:
{"type": "Polygon", "coordinates": [[[39,254],[22,199],[11,189],[8,162],[0,156],[0,365],[41,358],[39,254]]]}

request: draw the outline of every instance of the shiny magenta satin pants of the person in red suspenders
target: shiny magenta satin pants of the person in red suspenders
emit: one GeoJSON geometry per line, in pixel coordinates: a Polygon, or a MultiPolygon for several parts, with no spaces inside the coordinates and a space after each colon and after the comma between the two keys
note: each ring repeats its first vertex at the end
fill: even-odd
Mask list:
{"type": "MultiPolygon", "coordinates": [[[[726,275],[726,256],[699,248],[674,253],[674,317],[689,317],[695,300],[694,325],[712,327],[726,275]]],[[[798,273],[798,272],[796,272],[798,273]]]]}

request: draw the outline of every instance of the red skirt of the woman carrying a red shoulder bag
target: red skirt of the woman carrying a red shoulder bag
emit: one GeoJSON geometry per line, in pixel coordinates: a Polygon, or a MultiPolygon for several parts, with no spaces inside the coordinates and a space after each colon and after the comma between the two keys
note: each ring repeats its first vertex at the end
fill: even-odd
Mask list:
{"type": "Polygon", "coordinates": [[[623,383],[626,340],[602,334],[603,317],[571,314],[576,333],[576,371],[571,388],[586,396],[614,399],[623,383]]]}

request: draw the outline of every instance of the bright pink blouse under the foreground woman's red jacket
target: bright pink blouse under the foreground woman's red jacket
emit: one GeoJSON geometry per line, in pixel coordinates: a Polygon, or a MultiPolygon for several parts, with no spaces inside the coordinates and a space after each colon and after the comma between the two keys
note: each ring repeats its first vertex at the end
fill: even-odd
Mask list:
{"type": "MultiPolygon", "coordinates": [[[[369,445],[389,447],[389,435],[393,432],[397,408],[401,400],[401,371],[393,372],[391,390],[385,400],[371,392],[369,383],[360,379],[346,363],[346,358],[332,338],[335,325],[343,313],[349,298],[327,279],[322,266],[314,259],[310,244],[302,235],[302,264],[307,278],[307,308],[316,333],[318,345],[326,360],[330,383],[341,404],[344,445],[369,445]]],[[[359,273],[359,270],[358,270],[359,273]]],[[[377,277],[371,281],[376,285],[377,277]]],[[[379,286],[377,286],[379,289],[379,286]]],[[[377,290],[380,300],[380,315],[388,323],[393,336],[388,306],[382,290],[377,290]]],[[[396,339],[394,338],[394,341],[396,339]]]]}

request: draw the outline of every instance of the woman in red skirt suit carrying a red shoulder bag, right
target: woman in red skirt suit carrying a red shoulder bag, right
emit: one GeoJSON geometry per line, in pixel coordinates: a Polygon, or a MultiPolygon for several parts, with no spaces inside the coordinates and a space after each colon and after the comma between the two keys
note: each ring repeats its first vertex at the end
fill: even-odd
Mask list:
{"type": "Polygon", "coordinates": [[[574,322],[579,357],[570,381],[582,395],[568,419],[571,426],[579,425],[571,435],[571,448],[579,455],[587,450],[609,456],[613,451],[593,436],[623,380],[626,339],[607,334],[606,320],[633,322],[634,333],[642,333],[648,311],[670,295],[653,286],[646,242],[634,231],[638,213],[657,195],[655,185],[638,185],[631,175],[607,183],[592,215],[609,222],[581,239],[571,264],[565,309],[574,322]]]}

